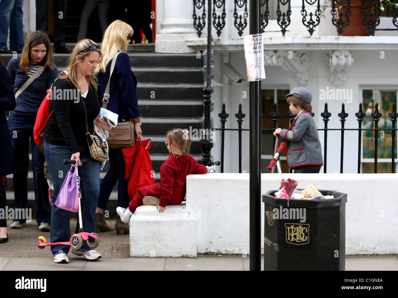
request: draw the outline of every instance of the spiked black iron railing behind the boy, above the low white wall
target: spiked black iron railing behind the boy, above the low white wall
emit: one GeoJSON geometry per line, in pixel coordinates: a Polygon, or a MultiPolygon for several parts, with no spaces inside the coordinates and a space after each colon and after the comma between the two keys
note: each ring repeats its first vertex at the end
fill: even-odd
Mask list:
{"type": "MultiPolygon", "coordinates": [[[[278,125],[278,118],[280,117],[280,113],[277,111],[277,104],[274,103],[274,108],[273,111],[269,114],[270,120],[273,122],[273,129],[261,129],[262,131],[269,131],[273,132],[278,125]]],[[[357,130],[358,131],[358,173],[361,173],[361,146],[362,146],[362,132],[366,130],[370,131],[384,131],[384,130],[390,130],[392,134],[392,144],[391,144],[391,173],[395,173],[395,142],[396,142],[396,122],[397,122],[397,117],[398,113],[396,112],[396,105],[395,103],[392,104],[392,112],[388,114],[388,117],[390,118],[391,121],[391,128],[378,128],[378,122],[380,121],[380,117],[382,117],[382,114],[379,113],[378,111],[378,103],[375,104],[375,111],[371,113],[371,117],[373,118],[373,124],[374,124],[374,129],[363,129],[362,128],[362,123],[363,123],[363,118],[366,116],[366,114],[363,112],[362,108],[362,103],[359,104],[359,111],[358,113],[355,113],[355,117],[357,117],[358,121],[358,128],[345,128],[345,121],[347,117],[349,116],[347,113],[345,113],[345,106],[344,103],[341,105],[341,113],[338,113],[338,117],[340,118],[341,122],[341,127],[340,128],[335,128],[331,129],[328,128],[328,122],[330,120],[330,117],[332,114],[328,111],[328,104],[325,103],[325,108],[323,113],[320,114],[321,117],[323,118],[324,121],[324,128],[323,129],[318,129],[319,131],[324,131],[324,173],[326,173],[327,170],[327,148],[328,148],[328,131],[332,130],[340,130],[341,131],[341,140],[340,140],[340,173],[343,173],[343,150],[344,150],[344,132],[346,130],[357,130]]],[[[289,111],[287,113],[287,116],[289,117],[289,122],[290,125],[293,123],[296,115],[293,115],[292,112],[289,111]]],[[[222,111],[219,113],[219,118],[221,122],[221,128],[211,128],[213,130],[220,130],[221,131],[221,172],[224,172],[224,132],[226,130],[230,131],[238,131],[238,147],[239,147],[239,173],[242,173],[242,131],[246,131],[249,129],[242,129],[242,123],[243,119],[245,117],[245,114],[242,113],[242,104],[239,104],[239,110],[238,113],[235,114],[235,117],[238,122],[238,128],[236,129],[226,129],[225,128],[225,123],[227,121],[227,118],[229,117],[229,114],[226,113],[225,111],[225,104],[222,104],[222,111]]],[[[264,115],[262,115],[264,117],[264,115]]],[[[314,113],[312,113],[312,117],[314,117],[314,113]]],[[[378,138],[379,134],[375,133],[375,157],[374,157],[374,162],[375,162],[375,173],[377,173],[377,156],[378,156],[378,138]]],[[[273,141],[273,146],[272,148],[275,147],[275,138],[273,141]]]]}

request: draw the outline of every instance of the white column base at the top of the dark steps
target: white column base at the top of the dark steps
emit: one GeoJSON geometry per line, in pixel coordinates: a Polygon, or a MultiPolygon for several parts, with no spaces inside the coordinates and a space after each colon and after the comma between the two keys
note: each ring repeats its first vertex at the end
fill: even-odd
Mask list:
{"type": "MultiPolygon", "coordinates": [[[[163,20],[156,33],[155,51],[163,53],[195,52],[185,44],[186,39],[197,37],[193,27],[193,2],[189,0],[163,0],[163,20]]],[[[207,5],[207,4],[206,4],[207,5]]]]}

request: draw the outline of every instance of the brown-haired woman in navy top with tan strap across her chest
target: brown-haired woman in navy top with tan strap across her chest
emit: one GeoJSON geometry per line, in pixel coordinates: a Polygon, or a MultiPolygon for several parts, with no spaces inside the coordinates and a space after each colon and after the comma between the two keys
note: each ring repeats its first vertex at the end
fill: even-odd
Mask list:
{"type": "MultiPolygon", "coordinates": [[[[51,206],[48,199],[48,184],[44,178],[44,155],[33,138],[37,110],[47,90],[58,74],[53,63],[50,40],[42,31],[29,35],[21,55],[8,62],[16,108],[8,119],[8,130],[14,150],[16,173],[14,173],[15,210],[27,208],[27,174],[29,167],[29,142],[32,147],[32,170],[36,201],[36,222],[41,231],[50,230],[51,206]],[[33,79],[33,80],[32,80],[33,79]],[[29,81],[30,80],[30,81],[29,81]],[[20,208],[20,209],[18,209],[20,208]]],[[[3,80],[3,78],[2,78],[3,80]]],[[[26,225],[26,218],[15,212],[11,228],[26,225]]]]}

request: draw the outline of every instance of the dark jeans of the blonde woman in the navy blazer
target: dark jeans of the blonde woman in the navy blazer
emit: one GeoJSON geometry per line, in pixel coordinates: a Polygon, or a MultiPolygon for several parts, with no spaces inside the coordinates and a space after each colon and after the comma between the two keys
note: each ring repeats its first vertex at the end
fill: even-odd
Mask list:
{"type": "Polygon", "coordinates": [[[127,185],[129,179],[125,180],[125,161],[121,149],[109,148],[109,170],[103,178],[100,186],[100,197],[98,198],[98,207],[106,209],[106,205],[111,195],[112,189],[117,185],[117,205],[123,208],[129,206],[129,193],[127,185]]]}

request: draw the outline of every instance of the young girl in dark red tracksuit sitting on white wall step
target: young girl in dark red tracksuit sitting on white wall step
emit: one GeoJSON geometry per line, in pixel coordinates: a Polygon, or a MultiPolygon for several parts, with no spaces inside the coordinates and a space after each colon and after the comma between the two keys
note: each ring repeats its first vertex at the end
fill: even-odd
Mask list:
{"type": "Polygon", "coordinates": [[[159,212],[165,210],[166,204],[181,204],[185,197],[187,175],[207,173],[206,166],[199,164],[189,155],[191,142],[191,136],[186,129],[173,129],[167,132],[165,143],[170,156],[160,167],[160,183],[141,187],[131,200],[128,209],[116,208],[123,222],[129,222],[135,209],[143,203],[158,205],[156,209],[159,209],[159,212]]]}

